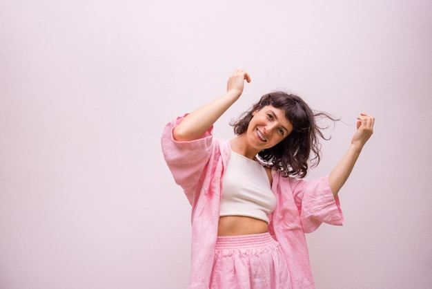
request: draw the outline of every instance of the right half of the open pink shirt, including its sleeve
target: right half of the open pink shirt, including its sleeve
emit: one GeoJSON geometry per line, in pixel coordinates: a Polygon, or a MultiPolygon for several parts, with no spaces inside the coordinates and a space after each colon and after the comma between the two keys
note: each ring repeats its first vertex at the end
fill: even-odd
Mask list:
{"type": "Polygon", "coordinates": [[[273,192],[277,198],[268,230],[281,245],[291,274],[292,288],[315,288],[305,233],[322,223],[342,225],[339,199],[333,196],[328,177],[315,180],[285,178],[273,169],[273,192]]]}

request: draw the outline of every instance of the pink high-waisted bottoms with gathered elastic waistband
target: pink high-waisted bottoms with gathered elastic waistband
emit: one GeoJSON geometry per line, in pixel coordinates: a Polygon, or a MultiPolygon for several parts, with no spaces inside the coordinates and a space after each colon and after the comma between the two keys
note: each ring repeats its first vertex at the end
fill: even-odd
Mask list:
{"type": "Polygon", "coordinates": [[[210,289],[289,289],[279,243],[268,234],[217,237],[210,289]]]}

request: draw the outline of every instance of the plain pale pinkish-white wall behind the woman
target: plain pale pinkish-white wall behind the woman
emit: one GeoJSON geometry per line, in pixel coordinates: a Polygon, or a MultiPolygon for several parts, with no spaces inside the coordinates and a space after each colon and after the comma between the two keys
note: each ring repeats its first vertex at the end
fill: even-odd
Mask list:
{"type": "Polygon", "coordinates": [[[253,81],[215,124],[277,88],[375,133],[308,235],[317,289],[431,288],[432,2],[0,1],[0,288],[186,288],[190,206],[164,124],[253,81]]]}

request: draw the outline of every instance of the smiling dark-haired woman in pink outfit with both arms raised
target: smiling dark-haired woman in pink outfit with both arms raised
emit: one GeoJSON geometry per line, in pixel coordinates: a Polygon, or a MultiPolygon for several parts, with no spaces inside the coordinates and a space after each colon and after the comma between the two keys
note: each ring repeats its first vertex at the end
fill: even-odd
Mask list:
{"type": "Polygon", "coordinates": [[[242,95],[246,71],[227,93],[168,123],[161,146],[175,182],[192,205],[189,288],[314,288],[305,233],[342,225],[337,193],[373,133],[361,113],[348,151],[328,176],[302,180],[320,160],[317,115],[298,96],[264,95],[233,123],[230,141],[215,121],[242,95]]]}

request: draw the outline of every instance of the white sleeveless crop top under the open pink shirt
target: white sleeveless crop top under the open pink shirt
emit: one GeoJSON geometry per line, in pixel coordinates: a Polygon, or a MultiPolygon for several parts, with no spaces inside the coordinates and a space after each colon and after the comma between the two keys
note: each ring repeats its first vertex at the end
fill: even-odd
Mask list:
{"type": "Polygon", "coordinates": [[[276,206],[266,169],[232,151],[222,178],[219,216],[249,216],[268,221],[276,206]]]}

